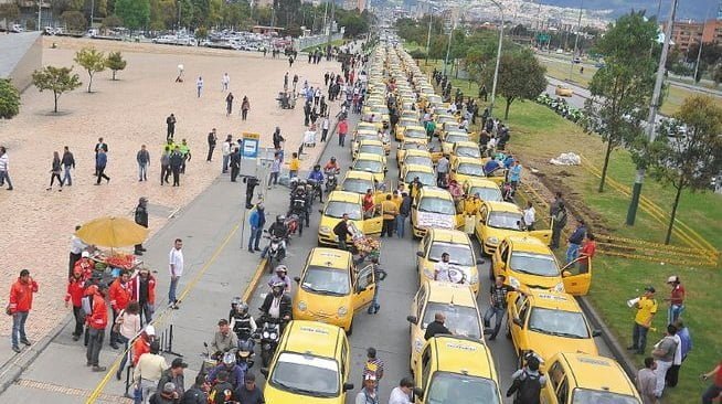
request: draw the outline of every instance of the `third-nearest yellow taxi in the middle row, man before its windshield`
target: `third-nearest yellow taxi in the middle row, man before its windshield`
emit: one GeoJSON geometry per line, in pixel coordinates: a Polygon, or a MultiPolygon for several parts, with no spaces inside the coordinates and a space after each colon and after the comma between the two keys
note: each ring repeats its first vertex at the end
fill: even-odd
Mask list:
{"type": "Polygon", "coordinates": [[[434,279],[434,265],[442,261],[442,254],[449,255],[449,273],[452,280],[468,285],[475,294],[479,294],[479,272],[474,246],[469,236],[458,230],[429,228],[418,243],[416,252],[416,268],[420,279],[434,279]]]}

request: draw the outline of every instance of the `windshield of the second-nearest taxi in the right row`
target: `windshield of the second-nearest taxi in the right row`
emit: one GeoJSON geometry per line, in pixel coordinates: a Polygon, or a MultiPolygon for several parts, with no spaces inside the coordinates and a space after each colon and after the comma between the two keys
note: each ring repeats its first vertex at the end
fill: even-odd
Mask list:
{"type": "Polygon", "coordinates": [[[564,311],[534,307],[529,315],[529,330],[565,338],[590,338],[584,315],[580,311],[564,311]]]}

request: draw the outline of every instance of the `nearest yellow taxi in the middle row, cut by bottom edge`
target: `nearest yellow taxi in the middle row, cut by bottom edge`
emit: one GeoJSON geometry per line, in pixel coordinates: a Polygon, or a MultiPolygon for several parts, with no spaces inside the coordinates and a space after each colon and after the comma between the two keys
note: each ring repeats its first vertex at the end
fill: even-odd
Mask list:
{"type": "Polygon", "coordinates": [[[424,344],[414,369],[415,404],[502,403],[491,352],[476,339],[438,336],[424,344]]]}

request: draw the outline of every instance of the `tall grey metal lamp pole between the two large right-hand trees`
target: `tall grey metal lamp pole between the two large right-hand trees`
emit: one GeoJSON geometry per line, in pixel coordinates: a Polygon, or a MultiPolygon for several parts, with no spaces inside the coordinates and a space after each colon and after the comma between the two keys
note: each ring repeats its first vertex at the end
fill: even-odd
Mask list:
{"type": "MultiPolygon", "coordinates": [[[[669,53],[669,41],[672,36],[672,25],[675,24],[677,2],[678,0],[672,0],[672,10],[669,12],[669,20],[667,21],[667,26],[665,26],[665,43],[662,44],[661,56],[659,57],[659,64],[657,65],[657,79],[655,81],[655,91],[651,95],[651,102],[649,104],[647,138],[649,139],[650,143],[655,141],[655,137],[657,136],[655,131],[655,126],[657,123],[657,108],[659,107],[659,96],[661,94],[662,83],[665,82],[665,64],[667,63],[667,53],[669,53]]],[[[630,226],[635,224],[635,219],[637,217],[637,206],[639,205],[639,196],[641,195],[641,185],[645,182],[645,171],[646,169],[644,167],[637,168],[635,184],[631,189],[631,201],[629,202],[629,209],[627,210],[627,224],[630,226]]]]}

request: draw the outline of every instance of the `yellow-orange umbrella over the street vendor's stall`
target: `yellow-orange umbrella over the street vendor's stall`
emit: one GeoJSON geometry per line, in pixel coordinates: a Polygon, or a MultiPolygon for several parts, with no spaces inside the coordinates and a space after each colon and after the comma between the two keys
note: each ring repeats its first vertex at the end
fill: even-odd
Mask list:
{"type": "Polygon", "coordinates": [[[105,247],[125,247],[141,244],[148,236],[148,228],[125,217],[98,217],[75,232],[86,244],[105,247]]]}

